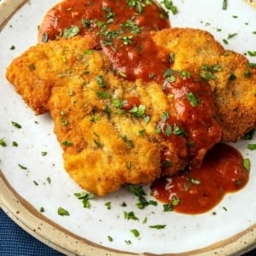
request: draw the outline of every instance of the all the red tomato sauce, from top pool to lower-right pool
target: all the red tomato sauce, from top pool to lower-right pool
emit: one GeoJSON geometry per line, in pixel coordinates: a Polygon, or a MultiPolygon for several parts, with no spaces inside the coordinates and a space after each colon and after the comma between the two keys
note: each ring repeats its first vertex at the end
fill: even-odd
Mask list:
{"type": "MultiPolygon", "coordinates": [[[[151,1],[64,0],[45,15],[38,41],[93,35],[96,49],[108,56],[113,73],[121,79],[156,81],[162,86],[172,107],[172,113],[163,113],[156,124],[166,141],[162,174],[173,174],[168,142],[190,166],[182,174],[156,180],[152,192],[156,199],[175,205],[177,212],[195,214],[207,212],[225,193],[245,186],[248,172],[234,148],[222,143],[212,148],[221,139],[221,128],[214,119],[210,86],[189,71],[173,71],[172,53],[154,44],[150,32],[170,26],[166,11],[151,1]]],[[[137,96],[130,96],[123,108],[130,111],[140,104],[137,96]]]]}

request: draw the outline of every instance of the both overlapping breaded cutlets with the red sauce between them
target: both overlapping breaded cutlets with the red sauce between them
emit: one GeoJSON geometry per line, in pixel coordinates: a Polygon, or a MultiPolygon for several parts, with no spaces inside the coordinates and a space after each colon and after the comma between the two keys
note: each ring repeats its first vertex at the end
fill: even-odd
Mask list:
{"type": "Polygon", "coordinates": [[[96,195],[200,166],[215,143],[255,127],[256,71],[245,57],[200,30],[151,35],[174,57],[164,84],[117,75],[94,36],[37,44],[8,67],[24,101],[54,119],[67,172],[96,195]]]}

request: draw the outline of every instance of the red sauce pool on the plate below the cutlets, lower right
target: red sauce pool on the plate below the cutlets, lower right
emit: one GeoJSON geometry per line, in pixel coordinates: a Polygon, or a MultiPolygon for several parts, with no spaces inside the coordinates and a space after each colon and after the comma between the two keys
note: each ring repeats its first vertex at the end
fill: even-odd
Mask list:
{"type": "Polygon", "coordinates": [[[222,200],[226,193],[242,189],[248,181],[243,158],[235,149],[218,143],[208,151],[201,167],[170,178],[160,178],[152,184],[155,198],[174,206],[176,212],[189,214],[207,212],[222,200]]]}

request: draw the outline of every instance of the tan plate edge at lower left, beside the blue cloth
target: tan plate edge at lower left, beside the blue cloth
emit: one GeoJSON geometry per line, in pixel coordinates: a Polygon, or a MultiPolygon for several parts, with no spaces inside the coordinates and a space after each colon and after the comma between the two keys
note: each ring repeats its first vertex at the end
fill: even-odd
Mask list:
{"type": "Polygon", "coordinates": [[[44,214],[20,197],[8,183],[0,170],[0,207],[23,230],[39,241],[67,255],[106,255],[131,256],[133,253],[123,253],[101,247],[55,224],[44,214]]]}

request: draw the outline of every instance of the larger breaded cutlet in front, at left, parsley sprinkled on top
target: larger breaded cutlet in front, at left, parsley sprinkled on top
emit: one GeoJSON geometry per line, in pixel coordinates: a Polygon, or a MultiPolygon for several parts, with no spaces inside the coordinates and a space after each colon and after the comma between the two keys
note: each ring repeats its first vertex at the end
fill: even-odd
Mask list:
{"type": "MultiPolygon", "coordinates": [[[[35,113],[49,111],[54,119],[70,176],[82,188],[106,195],[125,183],[148,184],[161,175],[175,174],[194,160],[200,164],[221,134],[215,109],[205,111],[205,98],[214,106],[208,84],[194,82],[195,87],[202,83],[204,88],[195,111],[205,120],[191,119],[189,124],[194,125],[195,134],[201,126],[201,141],[207,137],[210,143],[195,146],[190,154],[189,137],[180,132],[182,124],[168,126],[176,133],[156,132],[166,116],[175,115],[173,98],[154,81],[117,77],[107,56],[94,48],[93,37],[37,44],[7,70],[7,79],[35,113]],[[131,98],[139,103],[125,110],[122,104],[131,98]]],[[[182,88],[183,98],[186,91],[182,88]]]]}

